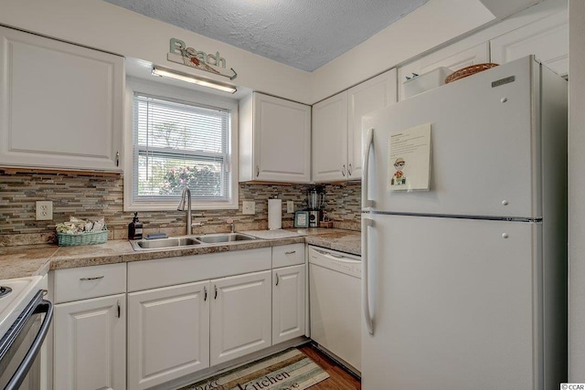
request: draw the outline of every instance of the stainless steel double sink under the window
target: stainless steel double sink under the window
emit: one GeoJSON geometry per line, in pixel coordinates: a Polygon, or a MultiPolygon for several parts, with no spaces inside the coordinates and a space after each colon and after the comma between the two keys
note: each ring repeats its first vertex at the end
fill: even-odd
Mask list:
{"type": "Polygon", "coordinates": [[[249,241],[257,239],[241,233],[218,233],[201,236],[168,237],[154,239],[138,239],[131,241],[134,250],[182,248],[204,244],[220,244],[233,241],[249,241]]]}

